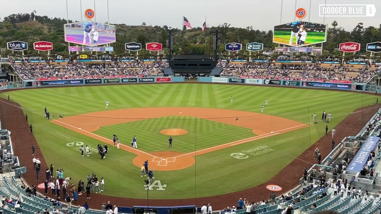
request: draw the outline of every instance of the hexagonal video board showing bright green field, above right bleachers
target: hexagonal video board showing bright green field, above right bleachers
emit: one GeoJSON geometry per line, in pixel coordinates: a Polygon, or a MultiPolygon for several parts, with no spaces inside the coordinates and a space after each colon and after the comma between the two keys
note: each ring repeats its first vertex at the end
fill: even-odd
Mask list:
{"type": "Polygon", "coordinates": [[[274,26],[273,32],[272,42],[294,47],[319,44],[327,40],[327,25],[314,22],[295,21],[281,24],[274,26]]]}

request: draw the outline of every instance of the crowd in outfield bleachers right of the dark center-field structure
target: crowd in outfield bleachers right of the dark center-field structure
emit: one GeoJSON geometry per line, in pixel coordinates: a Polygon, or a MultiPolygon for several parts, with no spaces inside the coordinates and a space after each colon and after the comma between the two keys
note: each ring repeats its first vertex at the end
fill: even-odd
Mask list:
{"type": "Polygon", "coordinates": [[[366,82],[379,70],[378,65],[321,63],[224,62],[221,76],[287,80],[346,80],[366,82]]]}

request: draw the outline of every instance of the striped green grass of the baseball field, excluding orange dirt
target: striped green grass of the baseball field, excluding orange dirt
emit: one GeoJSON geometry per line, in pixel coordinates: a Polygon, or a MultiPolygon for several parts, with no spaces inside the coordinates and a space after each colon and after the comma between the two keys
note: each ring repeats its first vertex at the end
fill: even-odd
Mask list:
{"type": "MultiPolygon", "coordinates": [[[[106,100],[110,102],[107,110],[139,107],[205,107],[260,113],[260,106],[267,99],[269,106],[265,108],[264,113],[302,123],[311,123],[313,113],[317,113],[319,119],[323,110],[330,112],[334,117],[328,124],[331,129],[355,109],[374,104],[376,101],[376,96],[371,94],[344,91],[182,83],[41,88],[12,91],[6,95],[8,94],[11,99],[35,112],[24,110],[29,115],[30,123],[34,125],[34,135],[47,164],[53,163],[56,168],[66,169],[65,176],[70,176],[75,181],[84,179],[91,172],[96,172],[99,176],[105,177],[106,192],[102,194],[134,198],[146,197],[140,170],[132,164],[134,154],[123,150],[110,150],[110,154],[104,160],[100,160],[95,155],[90,158],[80,157],[79,151],[66,144],[84,142],[91,147],[96,147],[101,142],[50,123],[37,113],[43,114],[45,106],[51,115],[61,114],[64,117],[104,111],[106,110],[106,100]],[[232,104],[230,96],[234,97],[232,104]]],[[[174,149],[179,149],[179,152],[194,150],[195,146],[198,149],[199,146],[200,148],[209,147],[253,136],[253,133],[245,128],[222,123],[214,124],[220,128],[216,130],[208,125],[201,128],[200,121],[197,122],[197,120],[187,120],[187,123],[177,120],[170,120],[170,123],[168,121],[160,120],[160,123],[156,122],[152,127],[149,126],[149,120],[119,124],[118,135],[130,138],[130,133],[139,132],[141,134],[136,135],[139,135],[140,138],[146,137],[147,140],[152,141],[149,148],[144,146],[144,150],[163,150],[160,148],[162,144],[167,143],[167,136],[161,136],[157,131],[173,128],[173,124],[178,123],[176,125],[184,127],[189,133],[184,136],[176,136],[174,145],[178,140],[190,142],[189,147],[177,148],[176,146],[174,149]],[[231,134],[232,129],[235,134],[231,134]],[[215,132],[224,137],[219,138],[217,135],[212,135],[215,132]],[[200,139],[203,141],[199,141],[200,139]],[[196,145],[191,144],[195,141],[197,141],[196,145]],[[199,143],[205,141],[210,145],[199,143]]],[[[187,169],[156,171],[155,177],[162,183],[168,184],[168,187],[165,191],[151,191],[150,198],[174,199],[211,196],[262,184],[323,136],[325,125],[325,123],[312,124],[308,128],[200,155],[196,157],[196,164],[187,169]],[[283,141],[289,138],[292,139],[283,141]],[[243,160],[231,157],[231,153],[242,152],[260,145],[267,145],[274,151],[257,156],[251,155],[243,160]],[[245,176],[233,175],[241,172],[242,169],[244,169],[245,176]],[[250,182],[247,182],[249,177],[250,182]],[[221,188],[221,185],[232,188],[221,188]]],[[[96,133],[109,137],[109,133],[112,133],[113,130],[112,126],[101,127],[96,133]]],[[[30,161],[30,157],[20,158],[30,161]]]]}

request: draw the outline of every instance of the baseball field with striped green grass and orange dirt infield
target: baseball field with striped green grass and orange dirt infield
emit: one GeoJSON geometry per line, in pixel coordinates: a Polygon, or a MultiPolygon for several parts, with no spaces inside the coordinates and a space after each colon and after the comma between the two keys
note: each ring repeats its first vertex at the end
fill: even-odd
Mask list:
{"type": "MultiPolygon", "coordinates": [[[[148,160],[155,181],[149,198],[174,200],[261,185],[324,136],[326,125],[332,129],[376,101],[371,94],[344,91],[197,83],[25,89],[3,98],[8,94],[33,125],[40,158],[63,168],[74,184],[95,172],[105,180],[99,194],[144,199],[147,177],[141,177],[140,168],[148,160]],[[323,111],[332,114],[329,123],[320,121],[323,111]],[[318,123],[312,122],[314,113],[318,123]],[[120,149],[112,147],[113,134],[120,149]],[[131,148],[133,136],[137,149],[131,148]],[[173,148],[168,148],[170,136],[173,148]],[[103,160],[98,144],[109,144],[103,160]],[[81,145],[90,145],[90,157],[81,157],[81,145]]],[[[32,165],[31,151],[19,158],[32,165]]],[[[301,161],[315,163],[313,158],[301,161]]],[[[287,182],[280,177],[274,185],[287,182]]]]}

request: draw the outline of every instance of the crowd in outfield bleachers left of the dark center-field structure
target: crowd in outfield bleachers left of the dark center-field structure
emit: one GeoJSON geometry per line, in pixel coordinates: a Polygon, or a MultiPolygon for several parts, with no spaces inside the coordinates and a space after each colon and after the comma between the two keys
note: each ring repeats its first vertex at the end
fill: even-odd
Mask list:
{"type": "Polygon", "coordinates": [[[13,64],[14,70],[24,79],[34,78],[72,78],[72,77],[105,77],[128,75],[162,75],[163,68],[168,67],[166,61],[155,62],[123,62],[104,63],[54,62],[54,63],[19,63],[13,64]]]}

